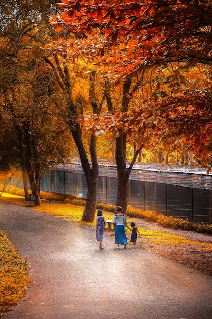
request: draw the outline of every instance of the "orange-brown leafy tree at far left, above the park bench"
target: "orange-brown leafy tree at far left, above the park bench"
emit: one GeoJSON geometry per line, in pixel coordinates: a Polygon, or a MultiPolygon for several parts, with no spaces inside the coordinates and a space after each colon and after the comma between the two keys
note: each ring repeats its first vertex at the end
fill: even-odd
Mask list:
{"type": "MultiPolygon", "coordinates": [[[[50,7],[49,1],[7,1],[1,2],[0,15],[0,135],[5,141],[1,163],[14,167],[19,161],[23,181],[27,172],[36,204],[40,204],[43,170],[51,165],[51,159],[66,157],[69,148],[65,143],[67,125],[62,117],[58,123],[56,86],[41,49],[51,36],[47,21],[55,8],[50,7]]],[[[27,198],[26,182],[24,190],[27,198]]]]}

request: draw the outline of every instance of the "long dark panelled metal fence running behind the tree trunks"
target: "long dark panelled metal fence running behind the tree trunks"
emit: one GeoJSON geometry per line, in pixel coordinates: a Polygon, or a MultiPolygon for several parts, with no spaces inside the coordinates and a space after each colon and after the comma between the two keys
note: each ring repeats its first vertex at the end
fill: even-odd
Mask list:
{"type": "MultiPolygon", "coordinates": [[[[199,188],[199,182],[196,187],[182,186],[180,174],[176,178],[172,175],[157,173],[157,178],[148,178],[147,173],[138,175],[133,172],[129,180],[129,198],[128,204],[144,211],[150,210],[161,212],[166,216],[179,218],[188,218],[189,221],[197,223],[212,223],[212,189],[199,188]],[[161,177],[162,176],[162,177],[161,177]],[[170,177],[170,178],[169,178],[170,177]],[[151,180],[152,179],[152,180],[151,180]]],[[[183,174],[181,174],[183,175],[183,174]]],[[[148,175],[150,176],[150,175],[148,175]]],[[[152,176],[152,175],[151,175],[152,176]]],[[[187,175],[188,179],[192,179],[187,175]]],[[[185,176],[183,183],[185,184],[185,176]]],[[[203,178],[205,183],[205,176],[203,178]]],[[[196,181],[197,178],[195,178],[196,181]]],[[[16,172],[14,176],[7,181],[7,184],[13,184],[23,188],[22,176],[16,172]]],[[[192,184],[193,185],[193,184],[192,184]]],[[[55,169],[42,177],[41,190],[50,193],[59,193],[71,196],[83,194],[82,198],[87,196],[87,183],[82,168],[79,165],[62,167],[55,169]]],[[[98,177],[98,196],[97,200],[102,203],[115,205],[117,199],[117,173],[115,168],[100,168],[98,177]]]]}

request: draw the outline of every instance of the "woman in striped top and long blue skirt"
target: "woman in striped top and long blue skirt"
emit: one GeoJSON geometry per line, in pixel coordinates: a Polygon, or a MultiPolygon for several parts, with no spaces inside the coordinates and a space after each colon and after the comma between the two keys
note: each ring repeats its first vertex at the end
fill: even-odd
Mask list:
{"type": "Polygon", "coordinates": [[[119,245],[121,244],[124,245],[124,248],[126,249],[127,237],[124,227],[125,225],[127,226],[127,220],[125,214],[123,214],[123,209],[120,206],[116,207],[113,223],[115,224],[115,244],[118,244],[117,248],[120,248],[119,245]]]}

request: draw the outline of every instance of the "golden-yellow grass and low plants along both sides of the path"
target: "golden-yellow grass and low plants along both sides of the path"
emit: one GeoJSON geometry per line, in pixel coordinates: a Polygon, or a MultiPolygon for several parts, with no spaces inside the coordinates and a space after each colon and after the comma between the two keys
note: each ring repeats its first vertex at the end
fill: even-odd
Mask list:
{"type": "MultiPolygon", "coordinates": [[[[24,206],[24,197],[22,195],[18,195],[21,191],[16,190],[16,195],[3,193],[1,199],[24,206]]],[[[66,221],[75,222],[78,225],[86,224],[90,227],[95,227],[95,219],[93,223],[81,222],[84,206],[79,206],[79,202],[77,200],[72,202],[55,201],[55,198],[52,194],[49,194],[51,199],[50,201],[47,200],[49,199],[48,194],[43,194],[42,197],[45,199],[42,199],[41,205],[32,206],[31,209],[44,212],[45,214],[52,215],[56,218],[63,218],[66,221]]],[[[61,197],[56,199],[62,200],[61,197]]],[[[97,209],[103,210],[103,214],[106,219],[112,219],[112,210],[114,209],[113,206],[99,203],[97,204],[97,209]],[[110,212],[107,212],[107,209],[110,210],[110,212]]],[[[156,218],[156,214],[154,212],[152,212],[152,215],[150,214],[151,212],[147,212],[144,216],[143,214],[145,214],[145,212],[140,212],[139,215],[138,209],[135,210],[135,214],[133,214],[133,212],[134,209],[128,207],[128,217],[146,218],[146,216],[150,216],[150,220],[154,220],[156,218]]],[[[163,219],[160,215],[157,217],[157,219],[160,221],[159,224],[163,225],[163,219]]],[[[164,220],[166,221],[165,225],[170,225],[172,221],[174,225],[173,228],[177,228],[177,225],[179,224],[179,228],[184,229],[184,227],[182,227],[180,224],[181,221],[176,222],[176,219],[174,219],[172,216],[168,219],[168,221],[167,217],[165,216],[164,220]]],[[[128,218],[127,221],[128,224],[130,224],[133,219],[128,218]]],[[[188,223],[188,221],[185,221],[185,223],[188,223]]],[[[152,242],[158,245],[198,245],[199,249],[212,251],[211,243],[190,240],[189,238],[168,233],[163,230],[152,230],[139,226],[137,227],[141,233],[142,241],[144,242],[152,242]]],[[[127,233],[130,234],[130,231],[128,230],[127,233]]],[[[20,255],[12,246],[6,234],[1,230],[0,248],[0,311],[4,311],[8,310],[12,305],[17,304],[18,301],[25,295],[30,278],[28,274],[29,264],[27,262],[27,257],[25,257],[25,260],[21,260],[20,255]]]]}

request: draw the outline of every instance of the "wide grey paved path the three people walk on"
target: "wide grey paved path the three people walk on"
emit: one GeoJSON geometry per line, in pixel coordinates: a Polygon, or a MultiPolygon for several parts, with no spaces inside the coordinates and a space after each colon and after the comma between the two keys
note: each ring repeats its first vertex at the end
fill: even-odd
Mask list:
{"type": "Polygon", "coordinates": [[[94,229],[0,200],[0,229],[31,264],[27,297],[5,319],[211,319],[212,277],[94,229]]]}

